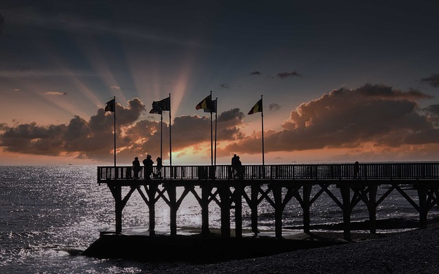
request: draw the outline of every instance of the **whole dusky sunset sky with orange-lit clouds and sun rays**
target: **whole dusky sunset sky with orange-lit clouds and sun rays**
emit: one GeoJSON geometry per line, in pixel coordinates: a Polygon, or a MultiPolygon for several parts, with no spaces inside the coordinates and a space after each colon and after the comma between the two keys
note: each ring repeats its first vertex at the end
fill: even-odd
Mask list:
{"type": "Polygon", "coordinates": [[[169,164],[170,146],[172,165],[211,164],[211,125],[217,164],[437,161],[438,14],[436,0],[2,0],[0,165],[113,164],[114,97],[118,165],[161,150],[169,164]],[[212,120],[195,110],[210,94],[212,120]],[[169,96],[161,123],[149,112],[169,96]]]}

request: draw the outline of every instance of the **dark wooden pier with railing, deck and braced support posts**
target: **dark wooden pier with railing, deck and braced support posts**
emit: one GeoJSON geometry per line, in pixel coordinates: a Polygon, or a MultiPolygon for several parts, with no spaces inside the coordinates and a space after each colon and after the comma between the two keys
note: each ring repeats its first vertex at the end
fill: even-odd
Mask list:
{"type": "MultiPolygon", "coordinates": [[[[149,209],[150,235],[154,235],[159,199],[169,206],[170,234],[177,234],[177,211],[187,195],[193,195],[200,205],[202,236],[210,234],[209,203],[220,208],[222,237],[231,236],[230,212],[235,210],[235,237],[240,238],[243,203],[250,208],[251,229],[257,234],[258,206],[267,201],[274,212],[275,236],[282,238],[283,213],[292,199],[302,208],[304,232],[310,232],[312,205],[323,194],[340,208],[346,239],[351,236],[353,208],[359,203],[366,205],[369,230],[375,233],[377,207],[392,192],[399,192],[418,212],[421,228],[427,226],[429,210],[439,206],[439,163],[359,164],[358,175],[357,168],[354,164],[247,165],[233,175],[230,165],[163,166],[161,177],[145,178],[142,168],[139,178],[134,179],[131,166],[98,166],[97,182],[106,184],[115,199],[115,234],[122,232],[122,210],[134,192],[139,192],[149,209]],[[124,197],[123,188],[128,188],[124,197]],[[201,189],[201,195],[195,188],[201,189]],[[378,195],[379,188],[383,190],[378,195]],[[407,190],[416,190],[417,197],[411,197],[407,190]],[[177,197],[177,193],[182,194],[177,197]]],[[[153,173],[157,174],[156,166],[153,173]]]]}

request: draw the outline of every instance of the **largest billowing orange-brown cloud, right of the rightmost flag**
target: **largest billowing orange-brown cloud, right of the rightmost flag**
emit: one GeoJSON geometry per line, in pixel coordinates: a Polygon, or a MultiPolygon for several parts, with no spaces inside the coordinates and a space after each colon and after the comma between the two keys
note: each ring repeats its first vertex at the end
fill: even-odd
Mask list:
{"type": "MultiPolygon", "coordinates": [[[[281,130],[265,132],[265,151],[439,143],[437,117],[421,114],[415,101],[423,98],[431,96],[372,84],[333,90],[299,105],[281,124],[281,130]]],[[[260,135],[255,132],[225,150],[260,153],[260,135]]]]}

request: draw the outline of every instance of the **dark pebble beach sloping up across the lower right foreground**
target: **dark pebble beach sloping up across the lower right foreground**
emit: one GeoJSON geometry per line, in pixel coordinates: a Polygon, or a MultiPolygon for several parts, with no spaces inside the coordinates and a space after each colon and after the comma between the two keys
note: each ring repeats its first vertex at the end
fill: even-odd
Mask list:
{"type": "MultiPolygon", "coordinates": [[[[332,237],[337,237],[334,233],[332,237]]],[[[439,226],[361,234],[346,245],[213,264],[156,265],[150,273],[439,273],[439,226]]]]}

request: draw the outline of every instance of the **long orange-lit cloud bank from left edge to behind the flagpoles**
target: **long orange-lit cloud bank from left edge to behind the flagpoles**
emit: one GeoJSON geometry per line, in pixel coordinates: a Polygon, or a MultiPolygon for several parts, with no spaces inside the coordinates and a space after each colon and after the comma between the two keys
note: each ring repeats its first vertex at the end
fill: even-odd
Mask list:
{"type": "MultiPolygon", "coordinates": [[[[131,162],[135,155],[159,155],[161,148],[160,121],[139,119],[145,105],[139,99],[128,101],[128,106],[116,105],[117,159],[131,162]]],[[[244,113],[235,108],[218,116],[217,140],[239,140],[244,113]]],[[[90,119],[74,116],[67,124],[37,125],[25,123],[8,126],[0,124],[0,147],[4,151],[32,155],[75,155],[79,159],[112,160],[113,116],[104,109],[90,119]]],[[[179,151],[187,147],[197,149],[211,140],[211,122],[208,116],[180,116],[172,125],[172,148],[179,151]]],[[[169,125],[163,123],[163,152],[167,155],[169,125]]],[[[166,156],[165,156],[166,157],[166,156]]]]}

